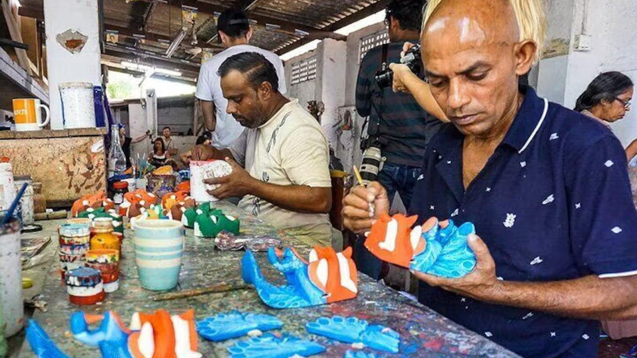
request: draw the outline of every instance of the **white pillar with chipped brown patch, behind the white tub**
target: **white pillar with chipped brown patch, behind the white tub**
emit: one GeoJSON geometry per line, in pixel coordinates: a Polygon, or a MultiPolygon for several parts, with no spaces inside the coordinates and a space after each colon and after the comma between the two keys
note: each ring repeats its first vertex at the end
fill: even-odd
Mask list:
{"type": "MultiPolygon", "coordinates": [[[[101,83],[99,22],[96,0],[44,1],[47,34],[48,87],[51,128],[63,129],[58,85],[62,82],[101,83]],[[67,30],[87,36],[82,50],[73,54],[57,41],[67,30]]],[[[71,46],[75,45],[73,42],[71,46]]]]}

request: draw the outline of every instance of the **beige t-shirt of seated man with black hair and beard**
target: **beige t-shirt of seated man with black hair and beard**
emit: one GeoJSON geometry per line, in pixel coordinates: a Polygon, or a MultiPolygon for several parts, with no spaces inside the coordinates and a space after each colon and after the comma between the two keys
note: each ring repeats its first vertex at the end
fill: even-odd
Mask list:
{"type": "MultiPolygon", "coordinates": [[[[254,178],[276,185],[331,187],[329,147],[317,120],[297,99],[290,99],[258,128],[244,129],[229,148],[234,159],[254,178]]],[[[297,213],[247,195],[240,208],[285,229],[304,243],[331,245],[327,214],[297,213]]]]}

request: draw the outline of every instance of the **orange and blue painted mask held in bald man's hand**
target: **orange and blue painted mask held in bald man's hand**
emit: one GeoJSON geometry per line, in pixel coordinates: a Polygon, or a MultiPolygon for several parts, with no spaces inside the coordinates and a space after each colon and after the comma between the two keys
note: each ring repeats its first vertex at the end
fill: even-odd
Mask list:
{"type": "Polygon", "coordinates": [[[416,220],[403,214],[381,215],[365,247],[383,261],[431,275],[459,278],[473,270],[475,255],[467,245],[469,234],[475,234],[471,222],[455,226],[451,219],[439,222],[432,217],[412,228],[416,220]]]}

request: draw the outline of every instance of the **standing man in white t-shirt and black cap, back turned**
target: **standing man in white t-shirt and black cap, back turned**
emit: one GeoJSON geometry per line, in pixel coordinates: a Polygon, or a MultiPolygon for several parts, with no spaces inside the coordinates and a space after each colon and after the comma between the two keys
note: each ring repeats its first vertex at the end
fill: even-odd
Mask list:
{"type": "Polygon", "coordinates": [[[201,66],[195,96],[201,100],[201,110],[203,111],[208,131],[213,132],[212,145],[222,149],[230,147],[234,140],[243,132],[241,124],[234,120],[232,115],[225,113],[228,101],[222,94],[220,78],[217,75],[219,66],[225,59],[241,52],[262,54],[275,66],[279,92],[285,94],[287,89],[285,87],[285,72],[283,71],[281,59],[273,52],[248,45],[248,41],[252,37],[252,29],[243,11],[236,9],[225,10],[219,15],[217,20],[217,32],[221,43],[226,49],[201,66]]]}

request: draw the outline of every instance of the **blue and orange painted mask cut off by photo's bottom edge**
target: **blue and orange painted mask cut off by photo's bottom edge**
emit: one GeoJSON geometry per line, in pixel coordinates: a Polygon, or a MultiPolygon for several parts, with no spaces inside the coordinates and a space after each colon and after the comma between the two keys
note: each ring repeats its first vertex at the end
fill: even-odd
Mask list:
{"type": "MultiPolygon", "coordinates": [[[[193,310],[173,316],[164,310],[135,313],[130,328],[113,311],[103,316],[76,312],[71,315],[71,332],[85,345],[99,347],[104,358],[201,358],[193,310]],[[99,328],[89,329],[100,322],[99,328]]],[[[34,320],[26,335],[39,358],[67,358],[34,320]]]]}

